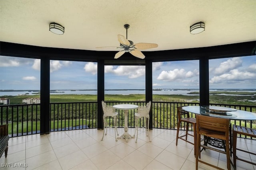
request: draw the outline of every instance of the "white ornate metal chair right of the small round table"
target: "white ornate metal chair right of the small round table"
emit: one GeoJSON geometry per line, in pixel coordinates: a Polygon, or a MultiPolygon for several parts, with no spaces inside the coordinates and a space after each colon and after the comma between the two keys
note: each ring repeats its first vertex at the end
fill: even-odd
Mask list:
{"type": "Polygon", "coordinates": [[[134,135],[133,135],[134,137],[135,137],[135,134],[137,132],[135,143],[137,143],[137,139],[138,139],[138,121],[141,118],[144,118],[144,121],[148,120],[148,121],[145,122],[146,135],[148,136],[148,139],[151,142],[150,137],[149,137],[149,111],[150,111],[150,108],[151,108],[151,101],[149,101],[146,104],[146,106],[139,106],[137,108],[137,113],[134,114],[135,123],[136,123],[135,124],[135,131],[134,131],[134,135]]]}

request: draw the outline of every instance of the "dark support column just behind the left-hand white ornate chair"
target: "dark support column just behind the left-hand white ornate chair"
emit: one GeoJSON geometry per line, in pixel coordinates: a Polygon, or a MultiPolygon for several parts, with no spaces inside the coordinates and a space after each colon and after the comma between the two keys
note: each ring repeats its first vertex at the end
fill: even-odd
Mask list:
{"type": "Polygon", "coordinates": [[[104,61],[98,61],[98,129],[103,129],[103,110],[101,101],[104,101],[104,61]]]}

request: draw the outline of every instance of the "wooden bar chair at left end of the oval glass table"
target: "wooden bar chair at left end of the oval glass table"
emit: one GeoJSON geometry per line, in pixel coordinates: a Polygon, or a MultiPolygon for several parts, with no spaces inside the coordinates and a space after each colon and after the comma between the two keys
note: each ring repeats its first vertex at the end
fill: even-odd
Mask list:
{"type": "Polygon", "coordinates": [[[196,147],[195,147],[195,143],[196,143],[196,118],[190,117],[188,111],[185,111],[182,109],[182,106],[177,107],[178,109],[178,126],[177,126],[177,135],[176,135],[176,146],[178,144],[178,139],[182,139],[183,141],[186,141],[192,145],[194,145],[194,155],[196,155],[196,147]],[[185,135],[181,135],[179,136],[179,132],[180,132],[180,126],[181,123],[184,122],[186,123],[186,134],[185,135]],[[188,125],[192,124],[192,127],[194,128],[194,135],[191,135],[190,133],[188,133],[188,125]],[[192,143],[191,141],[188,141],[188,135],[194,137],[194,143],[192,143]],[[185,137],[185,139],[184,139],[185,137]]]}

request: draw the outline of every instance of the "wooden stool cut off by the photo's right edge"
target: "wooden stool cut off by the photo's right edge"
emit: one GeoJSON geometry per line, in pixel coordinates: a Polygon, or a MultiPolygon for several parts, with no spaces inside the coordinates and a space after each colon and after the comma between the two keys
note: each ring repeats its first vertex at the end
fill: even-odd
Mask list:
{"type": "Polygon", "coordinates": [[[238,134],[255,138],[256,137],[256,129],[251,129],[251,128],[248,128],[248,127],[233,125],[232,134],[233,134],[233,137],[232,137],[232,141],[233,141],[233,162],[234,162],[235,168],[236,168],[236,160],[241,160],[241,161],[247,162],[249,164],[256,165],[256,163],[254,163],[254,162],[250,162],[248,160],[245,160],[245,159],[242,159],[242,158],[239,158],[239,157],[236,156],[236,150],[240,150],[242,152],[246,152],[246,153],[249,153],[249,154],[256,155],[256,153],[236,148],[236,139],[237,139],[238,134]]]}

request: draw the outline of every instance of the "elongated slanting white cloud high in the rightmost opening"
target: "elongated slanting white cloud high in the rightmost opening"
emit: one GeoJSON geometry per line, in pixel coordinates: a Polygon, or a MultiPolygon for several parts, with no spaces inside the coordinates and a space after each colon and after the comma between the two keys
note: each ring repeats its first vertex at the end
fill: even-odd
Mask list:
{"type": "Polygon", "coordinates": [[[220,66],[215,68],[214,73],[221,75],[240,66],[242,66],[242,60],[239,57],[233,57],[232,59],[220,63],[220,66]]]}

